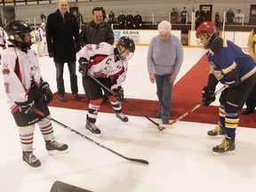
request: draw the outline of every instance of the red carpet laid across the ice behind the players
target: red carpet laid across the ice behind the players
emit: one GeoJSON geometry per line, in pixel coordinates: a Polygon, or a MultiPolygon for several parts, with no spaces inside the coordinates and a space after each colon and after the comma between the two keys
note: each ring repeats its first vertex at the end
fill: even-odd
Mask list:
{"type": "MultiPolygon", "coordinates": [[[[183,76],[180,81],[173,86],[172,91],[172,113],[171,118],[176,119],[179,116],[185,114],[190,109],[196,107],[201,101],[202,89],[207,83],[209,68],[207,63],[207,57],[204,55],[196,65],[191,68],[188,73],[183,76]]],[[[68,102],[60,102],[58,94],[54,93],[54,98],[50,104],[52,107],[60,108],[74,108],[87,110],[88,102],[85,100],[84,95],[81,100],[74,100],[70,93],[66,93],[68,102]]],[[[137,100],[125,98],[133,106],[140,109],[145,115],[149,117],[155,117],[159,108],[157,100],[137,100]]],[[[140,116],[138,112],[127,106],[125,103],[122,105],[124,114],[131,116],[140,116]]],[[[110,104],[102,103],[100,112],[113,113],[113,109],[110,104]]],[[[255,115],[240,116],[240,126],[256,127],[255,115]]],[[[217,124],[218,122],[218,107],[210,106],[208,108],[201,106],[194,112],[189,113],[188,116],[182,119],[182,121],[199,122],[207,124],[217,124]]]]}

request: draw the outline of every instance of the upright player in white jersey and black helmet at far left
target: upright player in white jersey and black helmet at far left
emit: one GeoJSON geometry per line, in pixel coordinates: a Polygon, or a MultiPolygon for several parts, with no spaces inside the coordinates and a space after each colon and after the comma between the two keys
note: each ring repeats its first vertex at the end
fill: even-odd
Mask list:
{"type": "Polygon", "coordinates": [[[15,20],[7,25],[6,32],[12,46],[3,52],[2,71],[8,103],[19,127],[22,159],[36,168],[41,165],[33,154],[36,123],[43,134],[49,154],[67,153],[68,145],[57,142],[53,136],[51,121],[35,112],[37,109],[45,116],[50,116],[47,104],[52,101],[52,91],[49,84],[43,81],[36,52],[30,48],[31,31],[22,20],[15,20]]]}

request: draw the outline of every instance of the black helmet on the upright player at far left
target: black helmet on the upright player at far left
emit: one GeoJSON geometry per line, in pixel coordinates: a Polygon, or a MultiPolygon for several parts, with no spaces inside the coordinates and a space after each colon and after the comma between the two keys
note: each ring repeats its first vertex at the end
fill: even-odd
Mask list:
{"type": "Polygon", "coordinates": [[[31,46],[31,42],[25,43],[24,36],[27,33],[30,33],[32,29],[28,23],[23,20],[14,20],[11,21],[5,28],[7,35],[9,36],[8,40],[17,47],[21,49],[28,49],[31,46]],[[17,38],[20,36],[22,41],[18,41],[17,38]]]}

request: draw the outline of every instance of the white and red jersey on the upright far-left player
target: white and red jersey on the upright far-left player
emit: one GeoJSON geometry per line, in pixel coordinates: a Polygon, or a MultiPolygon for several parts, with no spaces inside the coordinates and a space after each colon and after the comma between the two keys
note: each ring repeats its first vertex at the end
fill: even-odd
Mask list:
{"type": "Polygon", "coordinates": [[[13,109],[16,106],[15,101],[28,100],[32,80],[36,86],[42,82],[39,63],[33,49],[26,53],[16,47],[3,51],[1,63],[5,92],[10,108],[13,109]]]}

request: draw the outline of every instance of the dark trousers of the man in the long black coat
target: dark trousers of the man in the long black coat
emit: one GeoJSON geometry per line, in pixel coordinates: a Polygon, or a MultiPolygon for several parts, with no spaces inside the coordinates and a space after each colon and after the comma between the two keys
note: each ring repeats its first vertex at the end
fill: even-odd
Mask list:
{"type": "MultiPolygon", "coordinates": [[[[63,79],[64,63],[55,63],[55,67],[56,67],[56,81],[57,81],[58,94],[61,96],[64,96],[65,95],[65,87],[64,87],[64,79],[63,79]]],[[[69,70],[69,76],[70,76],[71,92],[73,94],[76,94],[78,92],[76,62],[68,62],[68,70],[69,70]]]]}

